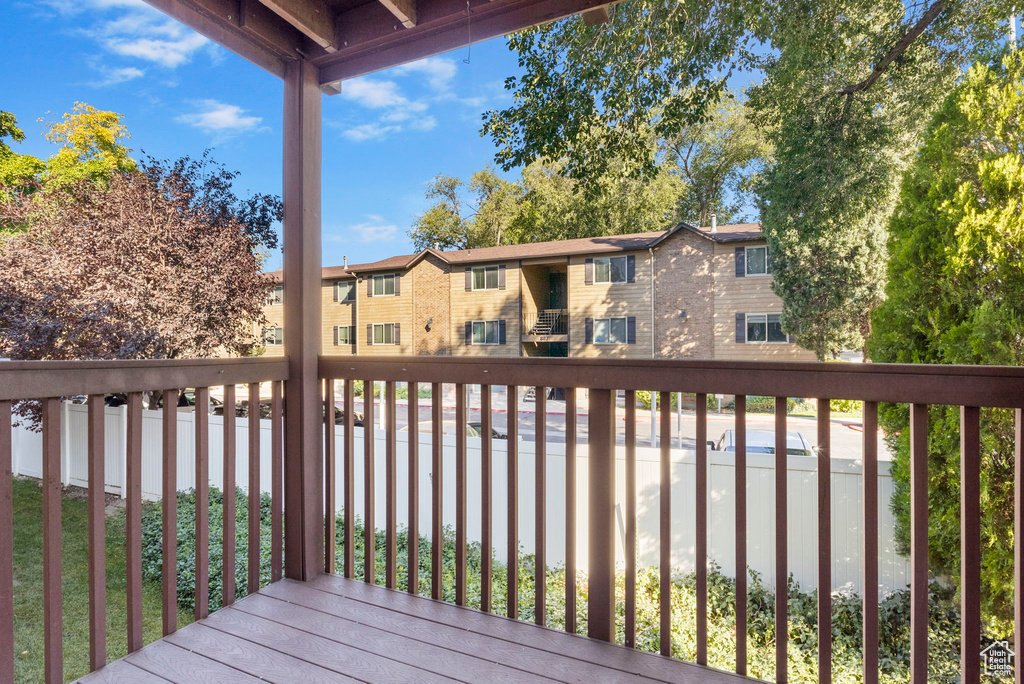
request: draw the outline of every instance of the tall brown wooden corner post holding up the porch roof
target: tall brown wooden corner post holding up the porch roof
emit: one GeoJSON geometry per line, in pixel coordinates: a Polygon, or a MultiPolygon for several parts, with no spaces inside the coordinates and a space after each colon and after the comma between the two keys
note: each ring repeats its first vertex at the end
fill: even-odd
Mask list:
{"type": "Polygon", "coordinates": [[[321,352],[321,90],[304,59],[285,69],[285,574],[324,571],[321,352]]]}

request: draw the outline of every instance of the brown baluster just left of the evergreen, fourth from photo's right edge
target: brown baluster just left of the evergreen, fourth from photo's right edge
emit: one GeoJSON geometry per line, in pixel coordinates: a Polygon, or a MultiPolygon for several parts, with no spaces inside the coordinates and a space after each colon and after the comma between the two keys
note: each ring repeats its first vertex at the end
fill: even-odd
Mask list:
{"type": "Polygon", "coordinates": [[[864,401],[864,684],[879,682],[879,404],[864,401]]]}

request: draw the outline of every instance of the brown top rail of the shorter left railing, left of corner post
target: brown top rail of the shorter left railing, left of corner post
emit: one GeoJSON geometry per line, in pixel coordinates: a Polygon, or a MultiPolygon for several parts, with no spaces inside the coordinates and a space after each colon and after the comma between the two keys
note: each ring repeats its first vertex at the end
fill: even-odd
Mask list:
{"type": "Polygon", "coordinates": [[[0,401],[288,380],[288,358],[0,361],[0,401]]]}

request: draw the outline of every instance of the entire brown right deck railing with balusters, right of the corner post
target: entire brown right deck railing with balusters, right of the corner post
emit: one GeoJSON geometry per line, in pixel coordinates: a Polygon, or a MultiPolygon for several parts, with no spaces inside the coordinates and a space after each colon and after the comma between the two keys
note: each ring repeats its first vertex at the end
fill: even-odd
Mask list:
{"type": "MultiPolygon", "coordinates": [[[[695,464],[696,489],[692,501],[674,501],[671,487],[671,412],[660,414],[660,479],[658,511],[659,518],[659,627],[660,652],[672,653],[670,610],[672,583],[672,540],[674,507],[695,508],[695,555],[696,555],[696,655],[698,664],[707,665],[709,656],[709,605],[708,605],[708,395],[735,395],[735,567],[736,592],[736,641],[735,671],[746,675],[748,669],[748,581],[746,581],[746,397],[772,396],[774,405],[775,434],[775,478],[774,494],[777,505],[774,513],[775,528],[775,575],[787,576],[787,519],[786,519],[786,398],[813,397],[817,400],[817,561],[818,561],[818,606],[817,631],[820,635],[818,646],[818,681],[830,682],[831,677],[831,533],[830,511],[830,399],[858,399],[863,401],[863,529],[864,529],[864,581],[863,581],[863,681],[879,680],[879,497],[878,497],[878,409],[879,402],[910,404],[910,680],[913,684],[924,684],[928,678],[928,619],[929,619],[929,568],[928,568],[928,408],[929,405],[958,405],[962,416],[962,575],[961,591],[962,640],[961,670],[964,682],[980,681],[981,650],[981,596],[980,596],[980,443],[979,408],[1015,409],[1017,427],[1015,433],[1016,454],[1020,455],[1024,445],[1021,408],[1024,407],[1024,369],[992,367],[934,367],[896,365],[854,365],[854,364],[754,364],[754,362],[703,362],[703,361],[657,361],[657,360],[592,360],[592,359],[452,359],[452,358],[387,358],[387,357],[322,357],[321,377],[326,381],[328,400],[334,400],[335,384],[344,383],[342,407],[344,412],[343,444],[338,453],[335,431],[327,431],[327,510],[335,510],[335,468],[340,459],[343,470],[343,514],[344,535],[342,538],[343,562],[340,570],[349,578],[356,576],[353,549],[356,530],[355,516],[362,515],[365,538],[365,567],[362,578],[374,582],[375,535],[380,521],[374,519],[374,497],[377,490],[374,472],[373,438],[364,441],[364,472],[361,481],[354,480],[354,382],[361,381],[365,387],[374,381],[383,381],[385,391],[381,399],[386,414],[385,442],[385,510],[383,521],[385,530],[386,578],[384,584],[397,586],[398,553],[396,547],[397,526],[404,523],[409,531],[409,557],[419,558],[417,548],[421,521],[418,519],[418,487],[399,494],[397,490],[396,440],[397,407],[396,384],[408,387],[409,421],[419,422],[419,388],[431,388],[431,424],[433,434],[443,431],[443,408],[439,397],[445,383],[455,385],[455,477],[456,477],[456,573],[455,602],[466,604],[467,588],[467,510],[470,484],[467,482],[467,444],[465,424],[467,422],[466,387],[480,386],[480,417],[482,422],[482,442],[480,451],[479,487],[481,511],[481,597],[479,607],[493,609],[490,578],[493,572],[493,493],[497,478],[505,478],[508,489],[508,604],[517,605],[516,562],[519,553],[517,528],[518,466],[517,426],[518,409],[516,397],[520,387],[536,386],[536,478],[535,499],[536,524],[536,589],[535,618],[544,624],[546,614],[545,596],[545,550],[546,532],[546,392],[545,388],[565,388],[566,396],[566,491],[565,529],[566,546],[566,587],[565,626],[575,631],[575,540],[577,502],[575,472],[577,452],[577,393],[572,390],[586,388],[589,394],[587,409],[589,458],[587,460],[588,488],[588,624],[587,634],[593,638],[610,641],[615,637],[615,395],[625,390],[625,644],[636,644],[636,591],[637,563],[637,500],[636,500],[636,392],[653,390],[659,392],[660,403],[670,405],[670,393],[687,392],[696,395],[695,411],[695,464]],[[497,473],[493,470],[492,389],[507,387],[508,397],[508,470],[497,473]],[[354,491],[364,488],[364,510],[354,509],[354,491]],[[398,497],[408,497],[410,516],[399,521],[396,517],[398,497]]],[[[364,424],[373,425],[374,402],[364,404],[364,424]]],[[[408,453],[409,482],[418,481],[418,473],[423,467],[430,469],[431,477],[431,520],[429,535],[432,548],[431,594],[434,598],[443,596],[441,587],[442,565],[442,461],[444,446],[441,439],[432,439],[430,461],[421,463],[419,440],[410,438],[408,453]]],[[[1021,487],[1024,485],[1024,464],[1018,458],[1015,470],[1017,507],[1014,512],[1016,539],[1024,540],[1024,508],[1021,502],[1021,487]]],[[[474,508],[476,506],[474,502],[474,508]]],[[[328,516],[326,530],[326,559],[328,569],[334,569],[335,528],[334,516],[328,516]]],[[[1014,576],[1016,585],[1016,634],[1015,643],[1021,643],[1022,592],[1021,582],[1024,564],[1021,554],[1022,542],[1018,542],[1017,563],[1014,576]]],[[[418,591],[417,562],[409,563],[409,581],[406,589],[418,591]]],[[[784,584],[783,584],[784,586],[784,584]]],[[[775,655],[776,681],[787,681],[788,654],[788,602],[785,591],[776,591],[775,603],[775,655]]],[[[515,613],[513,613],[514,615],[515,613]]]]}

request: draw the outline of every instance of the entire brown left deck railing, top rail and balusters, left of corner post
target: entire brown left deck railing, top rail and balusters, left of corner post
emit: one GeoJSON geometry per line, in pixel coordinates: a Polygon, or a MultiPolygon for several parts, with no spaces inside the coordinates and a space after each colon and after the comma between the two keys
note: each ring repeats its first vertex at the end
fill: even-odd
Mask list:
{"type": "MultiPolygon", "coordinates": [[[[198,359],[139,361],[0,361],[0,681],[14,679],[13,509],[11,493],[12,410],[27,407],[42,431],[43,612],[45,680],[63,681],[61,639],[61,440],[60,402],[88,396],[88,573],[89,669],[106,664],[106,572],[104,512],[104,397],[127,399],[127,477],[125,576],[127,646],[142,647],[142,411],[143,394],[159,396],[162,430],[162,605],[163,633],[177,627],[177,412],[179,390],[196,396],[196,617],[209,613],[209,403],[210,388],[224,395],[224,490],[234,490],[236,385],[248,385],[249,407],[260,403],[260,384],[269,383],[271,397],[271,579],[282,576],[283,562],[283,381],[285,359],[198,359]],[[34,402],[34,407],[19,403],[34,402]]],[[[156,401],[154,402],[156,403],[156,401]]],[[[251,414],[253,415],[253,414],[251,414]]],[[[258,416],[259,414],[255,414],[258,416]]],[[[29,419],[33,420],[33,419],[29,419]]],[[[249,421],[249,491],[260,490],[260,425],[249,421]]],[[[223,602],[234,590],[234,499],[224,497],[223,602]]],[[[248,591],[260,584],[260,497],[249,497],[248,591]]],[[[84,600],[84,597],[69,597],[84,600]]]]}

